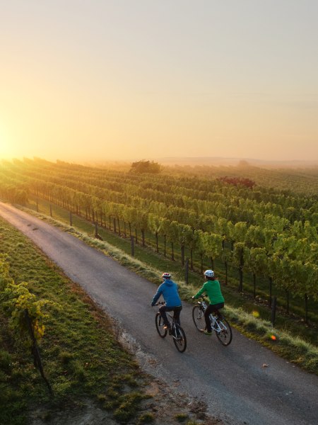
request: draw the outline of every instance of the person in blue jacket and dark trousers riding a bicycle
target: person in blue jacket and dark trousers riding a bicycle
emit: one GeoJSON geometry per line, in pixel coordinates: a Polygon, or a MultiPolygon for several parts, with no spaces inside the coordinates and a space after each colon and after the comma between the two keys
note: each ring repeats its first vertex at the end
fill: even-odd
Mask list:
{"type": "Polygon", "coordinates": [[[178,293],[177,283],[171,280],[170,273],[163,273],[163,283],[159,286],[157,292],[153,297],[151,306],[153,307],[155,303],[159,300],[160,296],[163,295],[165,304],[161,305],[159,312],[163,317],[164,329],[170,329],[169,320],[167,319],[166,312],[171,312],[173,310],[173,317],[176,322],[180,324],[180,312],[182,310],[182,303],[178,293]]]}

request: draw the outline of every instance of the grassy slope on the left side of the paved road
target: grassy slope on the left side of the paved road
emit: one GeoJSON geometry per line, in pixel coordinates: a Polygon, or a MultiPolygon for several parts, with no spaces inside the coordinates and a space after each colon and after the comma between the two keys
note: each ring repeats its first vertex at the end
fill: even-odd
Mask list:
{"type": "Polygon", "coordinates": [[[116,387],[119,404],[110,411],[120,423],[134,418],[141,409],[147,377],[129,353],[119,345],[107,316],[88,295],[63,276],[39,249],[0,219],[0,252],[8,254],[11,276],[30,282],[39,298],[56,302],[47,307],[45,336],[40,353],[45,375],[52,385],[50,397],[30,352],[8,329],[0,310],[0,424],[28,424],[29,409],[39,404],[50,412],[64,404],[81,405],[91,397],[104,404],[116,387]]]}

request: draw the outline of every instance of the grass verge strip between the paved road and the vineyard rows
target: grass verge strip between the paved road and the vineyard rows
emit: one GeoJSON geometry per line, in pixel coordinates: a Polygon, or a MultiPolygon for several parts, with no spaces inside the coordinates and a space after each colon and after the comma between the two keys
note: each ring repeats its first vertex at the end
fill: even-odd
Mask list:
{"type": "MultiPolygon", "coordinates": [[[[49,203],[39,201],[40,212],[49,213],[49,203]]],[[[35,209],[35,201],[28,205],[35,209]]],[[[134,257],[131,257],[131,242],[129,239],[119,237],[119,235],[109,230],[99,227],[98,233],[103,241],[94,239],[95,227],[81,217],[73,215],[73,227],[69,226],[69,212],[54,205],[52,207],[53,217],[40,215],[42,219],[48,220],[53,225],[59,225],[67,232],[72,232],[76,237],[84,242],[95,246],[119,261],[123,266],[139,273],[141,276],[158,283],[158,276],[163,271],[170,271],[173,278],[179,283],[179,292],[183,300],[192,301],[192,295],[201,287],[202,278],[199,273],[189,271],[189,284],[184,281],[184,268],[179,261],[171,261],[163,254],[157,254],[149,247],[135,245],[134,257]],[[59,222],[57,222],[59,220],[59,222]]],[[[33,212],[37,214],[36,212],[33,212]]],[[[297,363],[302,368],[312,373],[318,374],[317,358],[317,327],[308,326],[301,317],[288,317],[281,310],[281,314],[276,315],[275,332],[279,336],[275,341],[269,338],[273,333],[271,325],[271,310],[267,301],[252,299],[248,294],[241,295],[234,288],[237,288],[237,280],[230,276],[228,285],[222,285],[223,295],[226,300],[227,314],[231,318],[232,324],[243,334],[256,339],[265,346],[283,356],[288,361],[297,363]],[[258,318],[254,317],[257,312],[258,318]],[[240,319],[237,319],[239,317],[240,319]],[[299,355],[298,342],[303,341],[307,347],[307,355],[299,355]]]]}

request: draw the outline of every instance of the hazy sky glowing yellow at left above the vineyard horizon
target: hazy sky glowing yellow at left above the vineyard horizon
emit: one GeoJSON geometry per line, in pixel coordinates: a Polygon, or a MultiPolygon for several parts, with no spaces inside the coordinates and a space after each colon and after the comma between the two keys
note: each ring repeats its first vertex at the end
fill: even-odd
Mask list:
{"type": "Polygon", "coordinates": [[[0,0],[0,158],[318,159],[317,0],[0,0]]]}

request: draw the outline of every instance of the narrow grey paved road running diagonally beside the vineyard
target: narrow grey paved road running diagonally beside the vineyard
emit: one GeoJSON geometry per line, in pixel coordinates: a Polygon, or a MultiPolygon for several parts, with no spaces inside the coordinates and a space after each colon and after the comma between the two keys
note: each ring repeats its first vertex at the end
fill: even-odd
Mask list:
{"type": "Polygon", "coordinates": [[[156,285],[11,205],[0,203],[0,215],[30,237],[117,320],[119,334],[134,347],[143,368],[180,392],[202,399],[213,416],[235,425],[317,425],[317,376],[236,331],[232,344],[223,347],[216,336],[194,329],[192,305],[187,303],[181,318],[188,346],[178,353],[172,339],[160,339],[155,331],[150,302],[156,285]],[[263,368],[264,363],[269,366],[263,368]]]}

